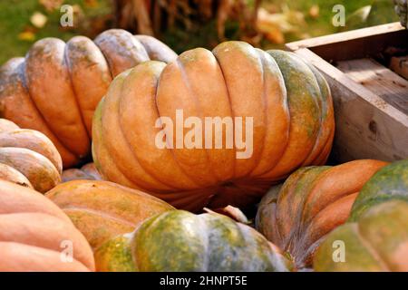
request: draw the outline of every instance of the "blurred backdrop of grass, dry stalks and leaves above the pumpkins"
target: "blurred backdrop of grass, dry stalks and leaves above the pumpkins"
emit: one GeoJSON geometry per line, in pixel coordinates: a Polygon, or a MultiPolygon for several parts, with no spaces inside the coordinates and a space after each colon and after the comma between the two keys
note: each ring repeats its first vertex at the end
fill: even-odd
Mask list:
{"type": "Polygon", "coordinates": [[[41,38],[93,38],[109,28],[154,35],[180,53],[225,40],[281,48],[395,21],[392,0],[0,0],[0,65],[41,38]],[[72,27],[60,24],[62,5],[72,5],[72,27]],[[332,24],[335,5],[345,7],[345,26],[332,24]]]}

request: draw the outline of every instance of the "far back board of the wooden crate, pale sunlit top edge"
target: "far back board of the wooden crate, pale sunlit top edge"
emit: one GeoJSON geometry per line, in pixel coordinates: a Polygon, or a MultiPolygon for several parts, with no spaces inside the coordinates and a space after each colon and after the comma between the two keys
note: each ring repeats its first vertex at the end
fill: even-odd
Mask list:
{"type": "Polygon", "coordinates": [[[309,48],[329,63],[374,56],[389,46],[408,47],[408,30],[399,23],[287,43],[289,50],[309,48]]]}

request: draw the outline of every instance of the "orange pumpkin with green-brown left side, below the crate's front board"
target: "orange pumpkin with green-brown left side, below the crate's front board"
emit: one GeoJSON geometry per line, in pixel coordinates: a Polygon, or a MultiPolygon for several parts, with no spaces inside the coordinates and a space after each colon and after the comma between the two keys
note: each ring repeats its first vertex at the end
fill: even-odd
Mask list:
{"type": "Polygon", "coordinates": [[[281,187],[262,198],[257,229],[293,256],[296,267],[310,266],[325,236],[349,217],[364,183],[386,164],[355,160],[296,170],[281,187]]]}

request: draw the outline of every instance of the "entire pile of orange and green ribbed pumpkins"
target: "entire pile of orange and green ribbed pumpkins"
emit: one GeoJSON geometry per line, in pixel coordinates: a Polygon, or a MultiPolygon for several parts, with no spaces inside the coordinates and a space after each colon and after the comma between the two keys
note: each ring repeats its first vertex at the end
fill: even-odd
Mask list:
{"type": "Polygon", "coordinates": [[[325,166],[330,89],[294,53],[46,38],[0,114],[0,271],[408,271],[408,160],[325,166]],[[250,118],[252,154],[159,148],[178,110],[250,118]]]}

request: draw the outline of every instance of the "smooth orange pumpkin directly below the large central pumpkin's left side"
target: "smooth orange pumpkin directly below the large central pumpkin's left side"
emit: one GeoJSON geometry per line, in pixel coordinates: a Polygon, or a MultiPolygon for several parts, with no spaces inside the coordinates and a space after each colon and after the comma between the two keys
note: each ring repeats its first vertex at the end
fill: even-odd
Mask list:
{"type": "Polygon", "coordinates": [[[72,219],[92,248],[131,232],[141,221],[173,209],[135,189],[101,180],[73,180],[45,194],[72,219]]]}

